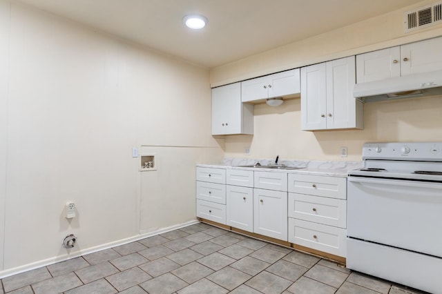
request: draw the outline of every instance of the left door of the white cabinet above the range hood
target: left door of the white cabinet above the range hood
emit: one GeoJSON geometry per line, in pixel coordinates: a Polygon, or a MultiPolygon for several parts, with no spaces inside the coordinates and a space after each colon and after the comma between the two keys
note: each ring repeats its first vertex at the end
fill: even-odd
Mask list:
{"type": "Polygon", "coordinates": [[[356,55],[356,81],[378,81],[401,75],[399,46],[356,55]]]}

